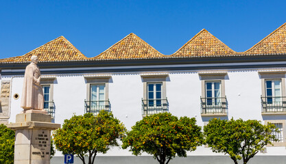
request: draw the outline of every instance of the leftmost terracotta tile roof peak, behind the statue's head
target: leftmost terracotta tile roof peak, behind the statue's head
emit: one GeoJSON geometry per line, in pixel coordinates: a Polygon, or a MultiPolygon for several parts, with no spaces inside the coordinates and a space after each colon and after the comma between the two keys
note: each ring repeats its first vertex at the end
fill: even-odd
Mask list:
{"type": "Polygon", "coordinates": [[[38,61],[74,61],[88,59],[78,51],[69,40],[60,36],[23,56],[0,59],[0,62],[30,61],[32,55],[38,56],[38,61]]]}

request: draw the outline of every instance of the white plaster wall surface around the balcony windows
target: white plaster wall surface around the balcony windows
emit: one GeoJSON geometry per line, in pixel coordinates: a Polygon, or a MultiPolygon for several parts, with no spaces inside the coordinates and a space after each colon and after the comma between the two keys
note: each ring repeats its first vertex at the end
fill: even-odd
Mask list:
{"type": "MultiPolygon", "coordinates": [[[[110,74],[106,74],[110,75],[110,74]]],[[[143,98],[143,81],[140,73],[112,74],[109,85],[111,111],[116,118],[131,129],[136,121],[142,119],[141,99],[143,98]]],[[[2,77],[4,80],[5,77],[2,77]]],[[[23,77],[12,79],[12,95],[21,96],[23,77]]],[[[200,96],[202,94],[198,72],[169,72],[166,82],[166,96],[169,101],[169,112],[173,115],[195,117],[199,126],[204,126],[209,118],[200,115],[200,96]]],[[[263,121],[261,116],[261,79],[257,70],[230,70],[225,79],[226,98],[228,100],[228,119],[255,119],[263,121]]],[[[62,124],[75,113],[84,114],[84,99],[86,99],[86,83],[83,74],[58,75],[53,85],[53,100],[56,105],[55,122],[62,124]]],[[[10,122],[14,122],[20,108],[21,97],[11,100],[10,122]]],[[[225,118],[225,117],[224,117],[225,118]]],[[[281,120],[281,116],[278,116],[281,120]]],[[[285,116],[282,116],[282,119],[285,116]]],[[[272,117],[275,119],[275,117],[272,117]]],[[[264,124],[264,122],[262,122],[264,124]]],[[[199,147],[188,155],[217,155],[209,148],[199,147]]],[[[270,154],[286,154],[285,147],[267,148],[270,154]]],[[[57,152],[56,155],[61,155],[57,152]]],[[[102,155],[102,154],[98,154],[102,155]]],[[[128,150],[112,148],[110,156],[130,156],[128,150]]],[[[143,154],[146,155],[146,154],[143,154]]],[[[223,155],[223,154],[221,154],[223,155]]],[[[263,154],[260,154],[263,155],[263,154]]]]}

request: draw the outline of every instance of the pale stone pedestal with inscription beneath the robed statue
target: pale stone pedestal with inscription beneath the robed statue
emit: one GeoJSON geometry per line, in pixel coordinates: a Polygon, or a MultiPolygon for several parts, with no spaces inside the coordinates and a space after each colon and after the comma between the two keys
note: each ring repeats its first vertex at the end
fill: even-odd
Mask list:
{"type": "Polygon", "coordinates": [[[60,128],[51,123],[51,115],[20,113],[8,127],[16,131],[14,164],[50,163],[51,130],[60,128]]]}

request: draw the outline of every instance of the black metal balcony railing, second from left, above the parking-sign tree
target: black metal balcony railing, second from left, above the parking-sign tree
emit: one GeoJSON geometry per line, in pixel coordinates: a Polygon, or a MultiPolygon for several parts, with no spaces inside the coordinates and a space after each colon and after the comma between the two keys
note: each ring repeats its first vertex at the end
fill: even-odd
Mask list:
{"type": "Polygon", "coordinates": [[[86,113],[93,113],[97,115],[99,111],[110,111],[111,105],[109,100],[84,100],[84,107],[86,113]]]}

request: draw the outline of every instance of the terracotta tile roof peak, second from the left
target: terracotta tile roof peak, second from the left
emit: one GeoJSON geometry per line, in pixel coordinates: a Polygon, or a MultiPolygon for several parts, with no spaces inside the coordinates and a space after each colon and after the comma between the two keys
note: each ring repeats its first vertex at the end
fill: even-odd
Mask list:
{"type": "Polygon", "coordinates": [[[144,40],[130,33],[128,36],[110,46],[109,49],[91,59],[134,59],[165,57],[144,40]]]}

